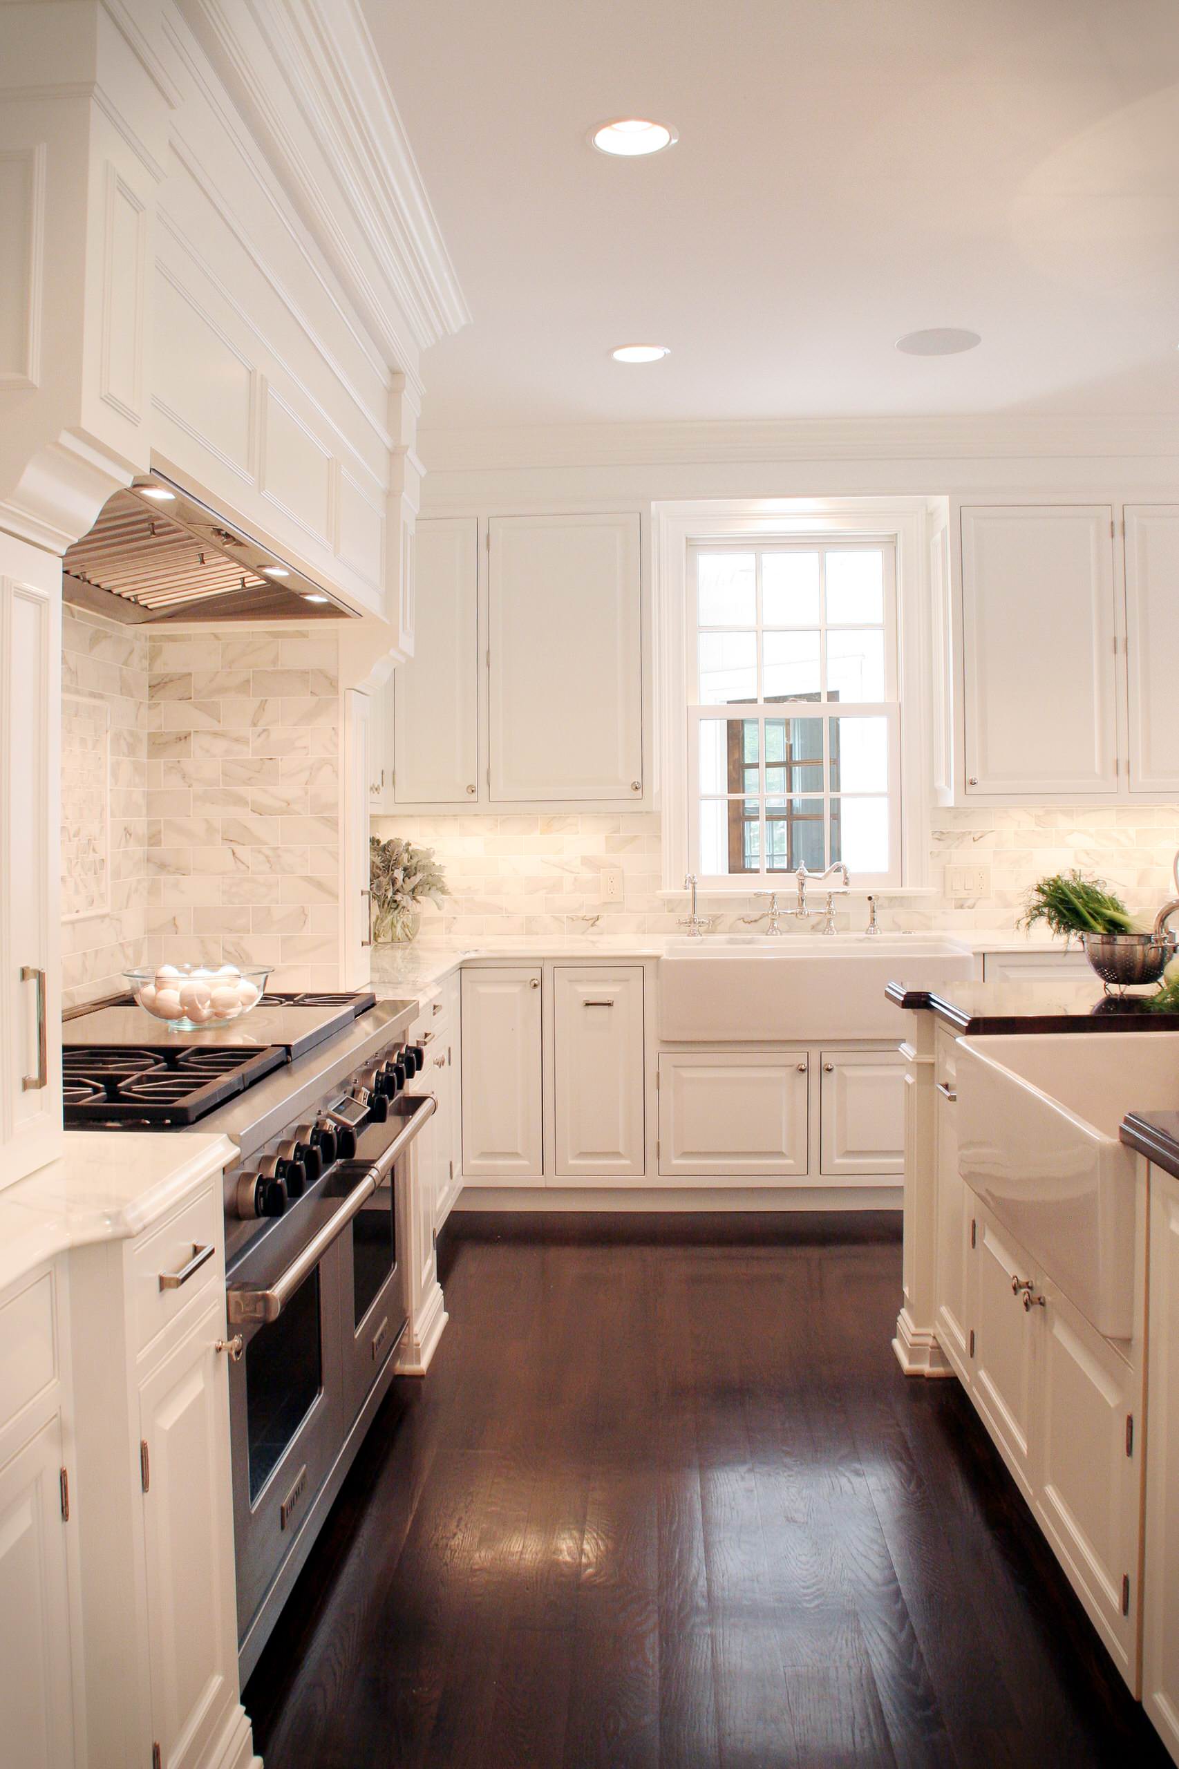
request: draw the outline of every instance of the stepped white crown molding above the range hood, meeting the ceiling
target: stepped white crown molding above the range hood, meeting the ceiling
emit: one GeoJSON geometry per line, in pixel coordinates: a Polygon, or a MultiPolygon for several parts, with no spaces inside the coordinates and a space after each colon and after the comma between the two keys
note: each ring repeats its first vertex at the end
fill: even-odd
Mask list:
{"type": "Polygon", "coordinates": [[[388,334],[389,302],[418,350],[466,325],[471,315],[358,0],[177,7],[374,338],[388,334]],[[285,90],[266,78],[260,48],[285,90]]]}

